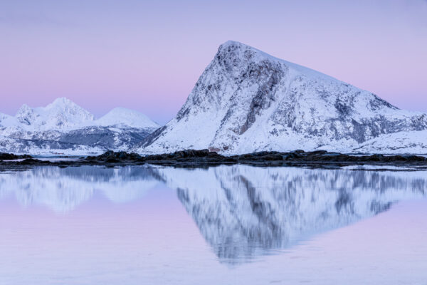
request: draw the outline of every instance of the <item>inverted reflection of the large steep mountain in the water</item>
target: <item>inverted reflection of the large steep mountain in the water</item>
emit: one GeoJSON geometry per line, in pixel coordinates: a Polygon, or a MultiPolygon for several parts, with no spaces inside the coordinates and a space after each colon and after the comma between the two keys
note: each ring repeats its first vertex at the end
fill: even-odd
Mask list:
{"type": "Polygon", "coordinates": [[[216,167],[159,170],[221,261],[247,261],[424,197],[425,172],[216,167]]]}

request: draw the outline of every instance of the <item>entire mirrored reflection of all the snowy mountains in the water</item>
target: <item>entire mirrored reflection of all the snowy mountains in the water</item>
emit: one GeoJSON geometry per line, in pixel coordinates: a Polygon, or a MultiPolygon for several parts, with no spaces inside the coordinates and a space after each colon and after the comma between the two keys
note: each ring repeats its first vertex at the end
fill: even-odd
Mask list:
{"type": "Polygon", "coordinates": [[[0,174],[0,199],[68,212],[99,191],[112,202],[141,198],[158,183],[176,190],[218,259],[239,263],[313,234],[425,196],[425,172],[309,170],[244,165],[180,169],[37,167],[0,174]]]}

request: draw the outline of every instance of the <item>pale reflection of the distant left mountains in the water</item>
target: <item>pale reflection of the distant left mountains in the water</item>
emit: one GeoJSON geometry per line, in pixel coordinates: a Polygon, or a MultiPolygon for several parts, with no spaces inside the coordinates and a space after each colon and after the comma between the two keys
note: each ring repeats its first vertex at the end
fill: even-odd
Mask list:
{"type": "Polygon", "coordinates": [[[44,204],[55,212],[69,212],[96,191],[112,202],[130,202],[157,185],[147,167],[36,167],[0,175],[0,198],[15,195],[20,204],[44,204]]]}

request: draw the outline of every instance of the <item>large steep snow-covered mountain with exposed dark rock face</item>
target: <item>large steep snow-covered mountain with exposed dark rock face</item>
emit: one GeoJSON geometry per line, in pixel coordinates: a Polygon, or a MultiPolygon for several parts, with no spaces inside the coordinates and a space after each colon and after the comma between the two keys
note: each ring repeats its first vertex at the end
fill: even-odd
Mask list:
{"type": "Polygon", "coordinates": [[[223,43],[176,118],[138,152],[210,148],[427,153],[427,115],[236,41],[223,43]]]}

